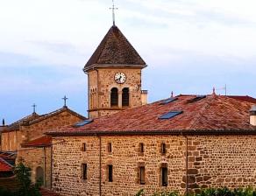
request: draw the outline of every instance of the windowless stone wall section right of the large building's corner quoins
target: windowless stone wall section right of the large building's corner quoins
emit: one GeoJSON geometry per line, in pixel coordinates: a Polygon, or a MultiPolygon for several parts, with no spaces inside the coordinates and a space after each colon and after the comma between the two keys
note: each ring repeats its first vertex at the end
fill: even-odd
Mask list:
{"type": "Polygon", "coordinates": [[[189,187],[256,186],[256,137],[188,139],[189,187]]]}

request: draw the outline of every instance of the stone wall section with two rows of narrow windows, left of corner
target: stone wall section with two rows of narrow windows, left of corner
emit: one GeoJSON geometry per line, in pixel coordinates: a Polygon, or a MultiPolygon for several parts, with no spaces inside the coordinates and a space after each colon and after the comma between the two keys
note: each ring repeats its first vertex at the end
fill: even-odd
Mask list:
{"type": "MultiPolygon", "coordinates": [[[[99,138],[61,137],[66,143],[53,146],[53,190],[65,195],[99,195],[99,138]],[[87,151],[81,151],[86,143],[87,151]],[[88,165],[88,179],[82,180],[82,164],[88,165]]],[[[60,140],[54,140],[59,143],[60,140]]],[[[185,175],[183,137],[102,137],[102,195],[134,195],[141,188],[182,192],[185,175]],[[107,144],[112,144],[112,153],[107,144]],[[144,143],[145,152],[139,152],[144,143]],[[167,153],[160,145],[167,144],[167,153]],[[160,186],[160,166],[168,166],[167,187],[160,186]],[[108,182],[107,165],[113,165],[113,182],[108,182]],[[139,185],[139,165],[146,167],[146,185],[139,185]]]]}

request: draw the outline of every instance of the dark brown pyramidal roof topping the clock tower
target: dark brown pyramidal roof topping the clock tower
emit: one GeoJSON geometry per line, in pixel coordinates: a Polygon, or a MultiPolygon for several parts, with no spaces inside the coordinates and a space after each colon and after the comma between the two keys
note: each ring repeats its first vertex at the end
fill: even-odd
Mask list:
{"type": "Polygon", "coordinates": [[[88,71],[93,66],[146,66],[124,34],[116,25],[111,26],[102,42],[84,66],[88,71]]]}

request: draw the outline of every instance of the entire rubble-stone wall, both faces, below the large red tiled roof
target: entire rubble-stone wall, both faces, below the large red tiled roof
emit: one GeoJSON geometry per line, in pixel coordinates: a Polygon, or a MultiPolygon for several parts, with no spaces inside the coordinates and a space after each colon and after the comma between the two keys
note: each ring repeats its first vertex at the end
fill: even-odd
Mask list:
{"type": "MultiPolygon", "coordinates": [[[[53,190],[64,195],[99,195],[99,137],[55,137],[53,190]],[[87,151],[81,151],[86,143],[87,151]],[[88,179],[82,180],[82,164],[88,179]]],[[[188,191],[198,187],[255,186],[256,137],[188,137],[188,191]]],[[[186,190],[186,138],[174,136],[102,137],[102,195],[146,195],[160,190],[186,190]],[[108,143],[112,152],[107,151],[108,143]],[[145,152],[139,153],[139,143],[145,152]],[[160,153],[160,144],[167,153],[160,153]],[[113,165],[113,182],[107,180],[113,165]],[[139,165],[146,167],[146,185],[139,185],[139,165]],[[168,186],[160,186],[160,165],[167,165],[168,186]]]]}

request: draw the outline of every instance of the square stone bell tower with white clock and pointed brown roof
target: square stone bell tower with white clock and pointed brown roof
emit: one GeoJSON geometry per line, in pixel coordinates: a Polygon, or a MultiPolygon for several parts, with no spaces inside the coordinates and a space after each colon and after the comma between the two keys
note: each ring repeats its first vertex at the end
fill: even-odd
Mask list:
{"type": "Polygon", "coordinates": [[[107,116],[147,102],[141,90],[146,62],[116,25],[111,26],[83,68],[88,74],[89,118],[107,116]]]}

